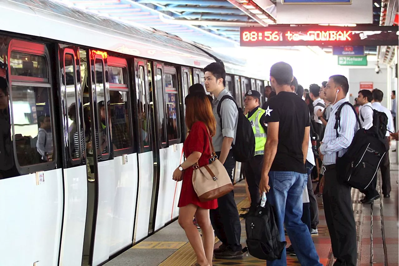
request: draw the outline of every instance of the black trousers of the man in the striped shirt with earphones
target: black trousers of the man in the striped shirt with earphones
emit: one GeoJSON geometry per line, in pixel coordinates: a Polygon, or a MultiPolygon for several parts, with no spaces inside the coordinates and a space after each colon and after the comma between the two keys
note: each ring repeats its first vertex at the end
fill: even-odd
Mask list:
{"type": "Polygon", "coordinates": [[[324,172],[323,203],[332,252],[337,258],[334,266],[356,266],[358,253],[351,188],[339,183],[336,169],[331,168],[324,172]]]}

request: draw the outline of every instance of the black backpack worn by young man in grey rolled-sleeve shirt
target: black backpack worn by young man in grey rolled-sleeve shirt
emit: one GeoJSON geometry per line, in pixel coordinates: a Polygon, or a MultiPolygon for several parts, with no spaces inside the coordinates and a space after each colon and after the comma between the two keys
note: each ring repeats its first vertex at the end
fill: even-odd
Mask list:
{"type": "Polygon", "coordinates": [[[241,108],[238,107],[234,98],[230,95],[224,95],[217,105],[217,115],[220,118],[220,124],[222,123],[222,117],[220,115],[221,103],[224,99],[231,99],[234,101],[238,109],[238,123],[237,123],[237,133],[235,135],[235,144],[231,144],[233,147],[233,155],[236,161],[246,162],[252,159],[255,154],[255,135],[253,134],[253,129],[251,122],[245,117],[241,108]]]}

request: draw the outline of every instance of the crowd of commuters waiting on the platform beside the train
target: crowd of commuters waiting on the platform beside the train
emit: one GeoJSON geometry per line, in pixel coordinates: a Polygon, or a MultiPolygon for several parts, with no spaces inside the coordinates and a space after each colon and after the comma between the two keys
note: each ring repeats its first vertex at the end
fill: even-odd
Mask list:
{"type": "MultiPolygon", "coordinates": [[[[195,84],[186,97],[186,125],[188,136],[184,142],[186,160],[176,168],[173,179],[183,180],[179,200],[179,223],[193,246],[197,256],[195,265],[212,265],[212,258],[242,258],[240,243],[241,224],[234,191],[223,197],[200,202],[193,184],[193,165],[199,167],[209,163],[210,144],[213,143],[219,161],[232,179],[235,158],[231,151],[235,143],[239,109],[231,94],[225,89],[223,64],[212,63],[204,69],[205,89],[195,84]],[[207,95],[206,92],[213,95],[207,95]],[[220,115],[217,107],[220,105],[220,115]],[[193,223],[196,218],[201,235],[193,223]],[[214,234],[221,245],[213,250],[214,234]]],[[[255,153],[245,162],[243,173],[246,179],[250,206],[241,217],[255,212],[261,193],[275,207],[280,240],[285,234],[291,246],[284,248],[278,260],[267,261],[267,265],[286,265],[286,254],[295,254],[301,265],[319,266],[320,263],[312,235],[318,234],[318,204],[312,179],[318,182],[316,193],[322,194],[332,252],[336,258],[334,266],[355,266],[357,262],[356,225],[352,210],[351,187],[337,179],[336,159],[342,157],[359,128],[358,118],[350,105],[341,110],[341,123],[334,128],[338,108],[348,101],[348,79],[343,75],[332,75],[321,86],[310,85],[304,89],[298,85],[292,67],[284,62],[270,69],[270,85],[265,87],[265,102],[261,105],[261,93],[249,90],[245,93],[245,115],[255,135],[255,153]],[[321,130],[320,130],[321,129],[321,130]],[[345,224],[345,226],[342,226],[345,224]]],[[[395,93],[391,95],[393,106],[395,93]]],[[[373,110],[388,116],[385,145],[391,138],[399,139],[395,132],[396,108],[391,111],[381,105],[382,91],[375,89],[359,91],[356,103],[361,126],[373,125],[373,110]]],[[[390,175],[388,153],[380,164],[382,193],[390,197],[390,175]]],[[[363,203],[370,203],[380,195],[374,182],[365,193],[363,203]]]]}

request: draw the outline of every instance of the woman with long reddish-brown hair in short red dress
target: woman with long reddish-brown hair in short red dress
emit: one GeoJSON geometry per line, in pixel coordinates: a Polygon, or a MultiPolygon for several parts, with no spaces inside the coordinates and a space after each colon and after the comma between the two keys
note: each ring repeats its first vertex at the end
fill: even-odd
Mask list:
{"type": "Polygon", "coordinates": [[[205,93],[190,93],[186,97],[186,125],[190,130],[184,141],[184,155],[187,158],[173,172],[173,179],[183,180],[178,207],[179,224],[186,232],[188,241],[197,256],[197,266],[211,266],[215,235],[209,218],[209,209],[217,208],[217,200],[200,202],[194,191],[192,177],[193,165],[199,167],[209,164],[211,149],[209,138],[215,135],[216,121],[211,103],[205,93]],[[193,216],[201,228],[201,236],[193,224],[193,216]]]}

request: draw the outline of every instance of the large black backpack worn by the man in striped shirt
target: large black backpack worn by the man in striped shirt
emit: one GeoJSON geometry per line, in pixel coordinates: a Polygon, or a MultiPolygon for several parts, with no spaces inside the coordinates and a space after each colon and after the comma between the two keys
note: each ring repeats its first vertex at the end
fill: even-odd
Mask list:
{"type": "MultiPolygon", "coordinates": [[[[336,129],[337,137],[339,136],[338,128],[340,127],[341,110],[344,105],[349,105],[353,109],[359,124],[359,130],[355,133],[348,151],[342,157],[338,157],[337,152],[337,179],[355,189],[363,191],[377,177],[379,164],[389,147],[387,149],[385,143],[381,141],[377,127],[373,125],[373,127],[367,130],[361,127],[355,108],[349,102],[342,103],[335,113],[336,123],[334,129],[336,129]]],[[[381,117],[383,116],[381,115],[381,117]]]]}

